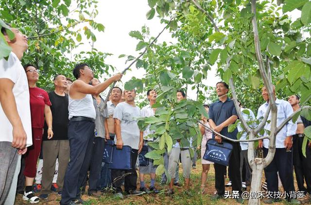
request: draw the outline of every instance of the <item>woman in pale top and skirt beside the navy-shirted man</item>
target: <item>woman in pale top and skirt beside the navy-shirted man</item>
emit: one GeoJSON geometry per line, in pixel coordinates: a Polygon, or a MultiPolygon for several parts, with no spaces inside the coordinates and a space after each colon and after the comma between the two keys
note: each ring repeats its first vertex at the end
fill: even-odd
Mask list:
{"type": "MultiPolygon", "coordinates": [[[[204,105],[205,110],[208,113],[208,105],[204,105]]],[[[204,116],[202,116],[202,121],[201,121],[205,126],[208,126],[208,119],[204,116]]],[[[203,156],[205,154],[205,150],[206,150],[206,144],[207,144],[207,140],[212,138],[212,131],[210,131],[209,129],[205,128],[204,126],[202,126],[201,124],[199,124],[200,127],[200,131],[202,134],[202,142],[201,142],[201,162],[202,162],[202,174],[201,174],[201,193],[204,194],[205,193],[205,183],[207,180],[207,173],[209,170],[209,164],[213,164],[213,162],[208,161],[203,159],[203,156]]]]}

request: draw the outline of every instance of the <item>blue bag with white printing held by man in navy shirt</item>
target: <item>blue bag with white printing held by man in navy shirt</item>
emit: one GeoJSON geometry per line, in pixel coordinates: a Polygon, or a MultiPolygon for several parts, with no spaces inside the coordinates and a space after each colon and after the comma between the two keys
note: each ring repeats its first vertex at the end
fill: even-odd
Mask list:
{"type": "Polygon", "coordinates": [[[218,143],[215,139],[207,140],[204,159],[217,164],[228,166],[232,152],[232,144],[229,142],[218,143]]]}

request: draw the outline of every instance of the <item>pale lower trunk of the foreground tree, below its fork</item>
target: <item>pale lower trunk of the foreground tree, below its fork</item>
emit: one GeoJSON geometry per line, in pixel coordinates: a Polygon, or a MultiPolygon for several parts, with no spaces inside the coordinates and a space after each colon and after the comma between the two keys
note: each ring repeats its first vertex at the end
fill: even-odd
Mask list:
{"type": "Polygon", "coordinates": [[[261,190],[261,178],[263,171],[262,158],[255,158],[252,170],[252,183],[249,191],[248,205],[260,205],[260,197],[257,197],[255,194],[252,196],[252,193],[259,193],[261,190]]]}

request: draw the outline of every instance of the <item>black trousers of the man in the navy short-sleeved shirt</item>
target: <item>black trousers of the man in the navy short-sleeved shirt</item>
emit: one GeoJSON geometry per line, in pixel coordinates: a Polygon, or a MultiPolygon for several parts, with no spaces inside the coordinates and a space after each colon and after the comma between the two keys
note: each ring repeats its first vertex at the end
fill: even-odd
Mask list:
{"type": "MultiPolygon", "coordinates": [[[[229,141],[225,141],[229,142],[229,141]]],[[[229,159],[229,176],[232,182],[232,191],[239,191],[241,193],[242,190],[242,182],[241,182],[241,174],[240,174],[240,152],[241,147],[239,142],[229,142],[232,144],[233,149],[231,152],[231,157],[229,159]]],[[[217,194],[224,195],[225,194],[225,169],[226,167],[221,164],[214,164],[215,168],[215,188],[217,190],[217,194]]]]}

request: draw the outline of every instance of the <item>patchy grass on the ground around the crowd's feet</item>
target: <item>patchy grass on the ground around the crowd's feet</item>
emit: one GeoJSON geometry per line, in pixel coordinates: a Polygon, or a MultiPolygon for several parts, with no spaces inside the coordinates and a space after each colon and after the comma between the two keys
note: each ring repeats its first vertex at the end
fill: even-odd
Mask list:
{"type": "MultiPolygon", "coordinates": [[[[181,166],[180,166],[181,168],[181,166]]],[[[86,201],[85,205],[239,205],[235,199],[222,199],[218,201],[210,200],[210,197],[215,191],[215,177],[214,168],[211,165],[210,171],[207,177],[206,194],[199,194],[201,186],[201,160],[197,161],[196,169],[191,170],[190,176],[190,189],[188,191],[175,187],[173,195],[166,195],[164,190],[168,188],[167,185],[162,186],[160,184],[160,177],[156,178],[156,187],[161,189],[159,194],[145,194],[142,196],[124,196],[124,199],[116,199],[113,193],[106,193],[100,198],[93,198],[87,195],[83,195],[82,199],[86,201]]],[[[179,170],[179,175],[182,176],[182,169],[179,170]]],[[[228,179],[225,180],[225,183],[228,179]]],[[[180,182],[183,184],[183,178],[180,177],[180,182]]],[[[149,175],[145,176],[145,184],[148,187],[150,184],[149,175]]],[[[139,182],[138,182],[139,187],[139,182]]],[[[297,189],[297,188],[296,188],[297,189]]],[[[231,190],[231,188],[226,188],[231,190]]],[[[249,190],[249,188],[247,188],[249,190]]],[[[36,194],[37,196],[39,193],[36,194]]],[[[50,194],[48,199],[40,201],[38,205],[59,205],[61,197],[57,194],[50,194]]],[[[22,200],[22,195],[17,194],[16,205],[30,204],[22,200]]],[[[247,201],[244,202],[247,204],[247,201]]],[[[263,204],[263,203],[262,203],[263,204]]],[[[288,205],[286,202],[275,203],[274,205],[288,205]]]]}

